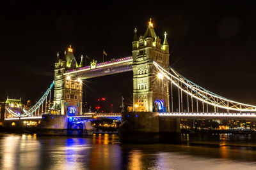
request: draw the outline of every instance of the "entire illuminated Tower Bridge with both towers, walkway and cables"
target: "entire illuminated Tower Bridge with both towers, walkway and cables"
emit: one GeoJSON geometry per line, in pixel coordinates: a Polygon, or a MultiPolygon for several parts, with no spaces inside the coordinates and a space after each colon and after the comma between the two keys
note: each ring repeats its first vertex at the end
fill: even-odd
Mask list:
{"type": "MultiPolygon", "coordinates": [[[[256,117],[256,106],[239,103],[214,94],[171,68],[166,36],[165,32],[162,43],[150,20],[143,36],[138,37],[137,29],[134,29],[132,56],[100,63],[93,60],[89,66],[84,66],[83,55],[78,64],[73,49],[69,46],[63,56],[57,53],[54,81],[42,98],[31,109],[23,110],[20,114],[15,112],[12,106],[6,106],[5,120],[33,119],[52,113],[66,116],[70,124],[84,124],[93,121],[95,115],[82,115],[83,80],[126,71],[133,73],[131,80],[133,81],[133,113],[116,113],[116,115],[104,113],[104,115],[96,117],[121,119],[122,115],[124,124],[132,122],[132,127],[136,127],[134,124],[139,124],[138,127],[156,124],[159,129],[161,129],[160,124],[167,124],[163,122],[166,122],[168,118],[177,122],[179,118],[256,117]],[[47,99],[51,101],[52,89],[54,104],[47,107],[47,99]],[[173,97],[174,92],[177,92],[177,98],[173,97]],[[173,101],[177,101],[176,105],[178,106],[173,101]]],[[[174,122],[172,124],[175,124],[174,122]]],[[[152,129],[154,128],[152,127],[152,129]]],[[[152,132],[160,132],[159,129],[154,129],[152,132]]]]}

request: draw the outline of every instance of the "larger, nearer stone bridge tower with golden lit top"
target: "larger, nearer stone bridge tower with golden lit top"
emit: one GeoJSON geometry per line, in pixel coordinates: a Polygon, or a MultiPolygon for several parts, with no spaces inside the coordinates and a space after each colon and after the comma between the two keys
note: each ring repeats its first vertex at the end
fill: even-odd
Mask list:
{"type": "Polygon", "coordinates": [[[134,111],[159,111],[169,112],[169,85],[163,78],[157,78],[153,60],[164,69],[169,66],[169,45],[164,33],[163,45],[156,35],[153,24],[148,22],[144,36],[137,36],[134,30],[132,41],[133,58],[133,110],[134,111]]]}

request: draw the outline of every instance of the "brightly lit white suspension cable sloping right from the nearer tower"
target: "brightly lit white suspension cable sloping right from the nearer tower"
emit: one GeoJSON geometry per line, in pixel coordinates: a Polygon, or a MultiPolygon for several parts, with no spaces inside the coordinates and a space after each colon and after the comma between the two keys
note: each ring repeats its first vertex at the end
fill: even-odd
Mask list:
{"type": "MultiPolygon", "coordinates": [[[[157,70],[164,75],[168,80],[172,82],[181,92],[185,92],[189,96],[196,99],[196,107],[198,111],[198,102],[202,101],[203,107],[204,103],[206,104],[208,110],[208,104],[214,107],[223,108],[227,111],[234,110],[234,111],[256,111],[256,106],[250,104],[239,103],[236,101],[232,101],[231,99],[227,99],[226,97],[219,96],[218,94],[214,94],[209,90],[206,90],[199,85],[196,85],[192,81],[188,80],[181,74],[179,74],[174,69],[170,69],[166,71],[163,67],[159,66],[157,62],[153,62],[154,66],[156,66],[157,70]]],[[[192,100],[192,99],[191,99],[192,100]]],[[[214,110],[216,110],[214,108],[214,110]]]]}

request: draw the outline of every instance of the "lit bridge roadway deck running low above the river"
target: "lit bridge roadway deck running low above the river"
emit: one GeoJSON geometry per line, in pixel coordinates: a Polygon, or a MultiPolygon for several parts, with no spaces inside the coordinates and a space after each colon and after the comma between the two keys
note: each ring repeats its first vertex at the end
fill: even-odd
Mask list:
{"type": "MultiPolygon", "coordinates": [[[[135,113],[134,113],[135,114],[135,113]]],[[[158,113],[159,117],[170,118],[253,118],[256,119],[256,113],[158,113]]],[[[121,117],[121,113],[86,113],[84,115],[73,116],[68,118],[118,118],[121,117]]],[[[42,116],[39,117],[20,117],[20,118],[4,118],[5,121],[13,120],[42,120],[42,116]]]]}

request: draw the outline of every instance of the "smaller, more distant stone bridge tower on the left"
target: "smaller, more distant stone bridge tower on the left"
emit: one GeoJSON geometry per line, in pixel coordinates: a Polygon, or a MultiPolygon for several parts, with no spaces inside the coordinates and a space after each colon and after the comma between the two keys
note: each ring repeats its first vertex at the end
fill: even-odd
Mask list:
{"type": "Polygon", "coordinates": [[[68,69],[76,69],[78,67],[71,45],[64,54],[63,59],[60,59],[59,53],[57,53],[57,60],[55,62],[54,110],[59,110],[61,115],[81,115],[83,81],[78,77],[64,75],[68,69]]]}

